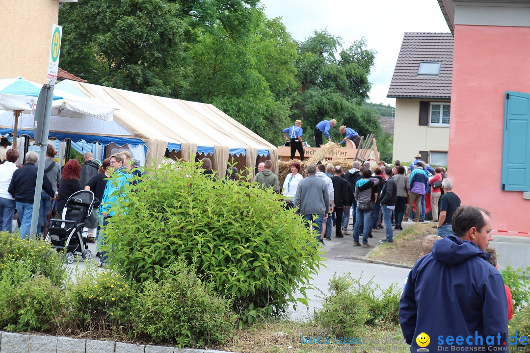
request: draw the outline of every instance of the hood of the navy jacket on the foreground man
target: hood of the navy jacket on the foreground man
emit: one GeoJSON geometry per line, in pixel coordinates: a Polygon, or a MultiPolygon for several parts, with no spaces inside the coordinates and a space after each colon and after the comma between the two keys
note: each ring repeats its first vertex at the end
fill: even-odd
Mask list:
{"type": "Polygon", "coordinates": [[[447,265],[457,265],[473,256],[486,258],[485,252],[475,243],[462,240],[453,234],[447,238],[435,241],[432,245],[432,256],[447,265]]]}

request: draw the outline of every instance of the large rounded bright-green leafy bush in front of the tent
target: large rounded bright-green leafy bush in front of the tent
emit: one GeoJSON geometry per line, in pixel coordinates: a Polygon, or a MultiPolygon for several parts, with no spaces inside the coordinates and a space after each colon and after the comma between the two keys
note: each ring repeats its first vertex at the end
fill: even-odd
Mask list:
{"type": "Polygon", "coordinates": [[[113,206],[107,227],[112,263],[141,283],[184,256],[219,294],[233,296],[249,323],[284,312],[297,289],[306,303],[321,257],[301,218],[272,191],[202,171],[198,163],[166,165],[122,190],[127,200],[113,206]]]}

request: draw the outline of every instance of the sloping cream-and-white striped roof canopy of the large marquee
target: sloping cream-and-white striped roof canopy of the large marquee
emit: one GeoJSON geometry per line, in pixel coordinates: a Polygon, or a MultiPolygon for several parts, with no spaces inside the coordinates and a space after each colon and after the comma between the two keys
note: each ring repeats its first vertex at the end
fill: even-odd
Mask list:
{"type": "MultiPolygon", "coordinates": [[[[245,166],[254,167],[260,156],[268,156],[273,169],[278,166],[278,149],[245,128],[211,104],[130,92],[123,89],[64,80],[56,85],[61,91],[96,98],[116,106],[114,121],[127,130],[122,138],[139,138],[148,147],[147,160],[160,161],[166,148],[182,152],[184,159],[195,154],[212,155],[214,168],[226,170],[230,155],[245,156],[245,166]]],[[[50,125],[51,130],[51,125],[50,125]]],[[[78,129],[79,131],[81,129],[78,129]]],[[[86,134],[100,134],[100,126],[84,124],[86,134]]],[[[66,131],[65,131],[66,132],[66,131]]],[[[113,134],[118,137],[117,133],[113,134]]],[[[86,141],[86,140],[85,140],[86,141]]],[[[238,166],[241,168],[242,166],[238,166]]],[[[221,172],[223,176],[223,172],[221,172]]]]}

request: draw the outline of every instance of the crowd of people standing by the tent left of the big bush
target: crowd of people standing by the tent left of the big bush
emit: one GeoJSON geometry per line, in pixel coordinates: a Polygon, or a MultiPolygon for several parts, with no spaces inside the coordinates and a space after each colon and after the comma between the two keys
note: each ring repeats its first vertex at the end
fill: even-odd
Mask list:
{"type": "MultiPolygon", "coordinates": [[[[3,151],[0,151],[0,158],[2,155],[3,151]]],[[[128,151],[121,151],[101,162],[94,159],[92,152],[86,152],[83,155],[83,164],[76,159],[70,159],[61,167],[54,160],[56,156],[57,151],[49,144],[42,179],[37,234],[45,234],[50,218],[63,218],[68,198],[86,189],[94,193],[95,200],[94,211],[85,224],[84,232],[88,241],[95,242],[98,224],[103,225],[105,219],[112,216],[112,212],[105,206],[100,207],[110,205],[113,201],[113,189],[111,183],[107,183],[107,178],[114,171],[118,173],[118,181],[121,175],[126,179],[135,174],[141,175],[142,172],[138,169],[139,160],[131,159],[128,151]]],[[[30,236],[39,155],[33,151],[27,152],[22,166],[17,165],[19,152],[16,149],[7,149],[4,158],[0,165],[0,229],[12,232],[13,220],[18,220],[20,237],[25,239],[30,236]]]]}

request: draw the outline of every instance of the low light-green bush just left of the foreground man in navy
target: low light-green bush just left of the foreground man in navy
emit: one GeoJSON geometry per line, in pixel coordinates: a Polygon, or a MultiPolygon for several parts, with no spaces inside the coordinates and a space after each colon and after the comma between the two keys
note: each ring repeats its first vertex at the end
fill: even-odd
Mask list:
{"type": "Polygon", "coordinates": [[[322,292],[324,303],[315,313],[316,323],[326,334],[350,338],[359,336],[364,325],[378,327],[399,322],[400,292],[395,285],[383,290],[373,278],[363,284],[360,278],[347,273],[333,275],[329,292],[329,295],[322,292]]]}

